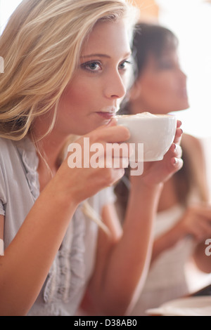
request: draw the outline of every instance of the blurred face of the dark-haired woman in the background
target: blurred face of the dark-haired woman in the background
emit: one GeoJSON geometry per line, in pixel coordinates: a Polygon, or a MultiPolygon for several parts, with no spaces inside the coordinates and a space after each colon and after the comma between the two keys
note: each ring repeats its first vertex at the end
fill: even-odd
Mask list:
{"type": "Polygon", "coordinates": [[[186,75],[179,67],[176,51],[160,60],[151,55],[131,95],[132,112],[167,114],[187,109],[186,75]]]}

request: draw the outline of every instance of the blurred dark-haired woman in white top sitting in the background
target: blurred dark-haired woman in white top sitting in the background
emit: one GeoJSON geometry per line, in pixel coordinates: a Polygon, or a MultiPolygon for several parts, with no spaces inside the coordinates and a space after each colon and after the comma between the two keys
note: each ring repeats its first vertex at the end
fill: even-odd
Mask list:
{"type": "MultiPolygon", "coordinates": [[[[177,37],[165,27],[140,23],[134,36],[134,84],[121,113],[168,114],[189,107],[186,75],[181,71],[177,37]]],[[[200,141],[181,140],[183,168],[162,190],[155,222],[151,270],[132,315],[188,293],[186,264],[193,256],[200,270],[210,272],[205,239],[211,237],[211,208],[200,141]]],[[[124,218],[130,189],[129,171],[115,187],[117,210],[124,218]]]]}

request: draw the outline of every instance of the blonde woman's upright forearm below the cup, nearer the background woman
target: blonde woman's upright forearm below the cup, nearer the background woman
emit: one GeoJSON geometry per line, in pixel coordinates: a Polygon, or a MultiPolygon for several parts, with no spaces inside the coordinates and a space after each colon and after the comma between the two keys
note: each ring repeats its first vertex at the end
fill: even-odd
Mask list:
{"type": "Polygon", "coordinates": [[[141,290],[151,257],[152,227],[161,185],[130,192],[123,235],[110,251],[101,284],[106,315],[124,315],[141,290]]]}

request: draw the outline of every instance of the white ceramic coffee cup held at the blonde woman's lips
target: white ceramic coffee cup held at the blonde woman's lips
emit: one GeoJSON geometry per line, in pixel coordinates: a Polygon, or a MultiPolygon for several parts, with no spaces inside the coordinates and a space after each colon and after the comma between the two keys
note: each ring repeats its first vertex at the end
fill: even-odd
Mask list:
{"type": "Polygon", "coordinates": [[[131,134],[128,143],[135,144],[136,161],[160,161],[170,149],[177,129],[177,119],[172,114],[122,114],[115,116],[118,125],[125,126],[131,134]],[[142,158],[138,157],[138,144],[143,144],[142,158]]]}

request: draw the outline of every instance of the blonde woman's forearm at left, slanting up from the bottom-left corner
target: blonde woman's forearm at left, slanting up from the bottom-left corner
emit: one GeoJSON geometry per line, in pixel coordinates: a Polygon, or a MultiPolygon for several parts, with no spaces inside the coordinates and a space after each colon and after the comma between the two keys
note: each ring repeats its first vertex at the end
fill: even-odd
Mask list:
{"type": "Polygon", "coordinates": [[[1,315],[26,315],[30,310],[75,211],[51,188],[41,193],[1,257],[1,315]]]}

